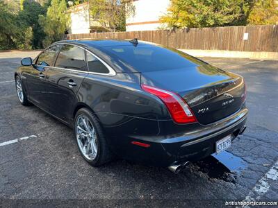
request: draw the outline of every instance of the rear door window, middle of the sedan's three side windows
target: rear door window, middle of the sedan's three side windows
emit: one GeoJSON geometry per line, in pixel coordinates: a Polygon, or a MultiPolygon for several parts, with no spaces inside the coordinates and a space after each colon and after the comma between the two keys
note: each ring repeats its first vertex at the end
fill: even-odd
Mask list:
{"type": "Polygon", "coordinates": [[[87,71],[84,50],[72,45],[63,45],[55,67],[87,71]]]}

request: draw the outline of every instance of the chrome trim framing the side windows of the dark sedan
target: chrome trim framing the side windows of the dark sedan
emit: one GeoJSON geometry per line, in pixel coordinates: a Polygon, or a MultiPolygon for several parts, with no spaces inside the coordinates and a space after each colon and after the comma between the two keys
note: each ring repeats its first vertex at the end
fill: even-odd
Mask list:
{"type": "MultiPolygon", "coordinates": [[[[76,45],[76,44],[72,44],[72,43],[67,43],[67,42],[58,42],[58,43],[55,43],[55,44],[51,44],[51,46],[55,46],[55,45],[63,45],[63,44],[67,44],[67,45],[72,45],[72,46],[76,46],[76,47],[79,47],[80,49],[83,49],[84,52],[88,52],[90,53],[91,55],[95,56],[95,58],[97,58],[101,63],[104,64],[104,66],[109,70],[109,73],[98,73],[98,72],[92,72],[92,71],[82,71],[82,70],[75,70],[75,69],[65,69],[65,68],[60,68],[60,67],[51,67],[51,66],[42,66],[42,65],[38,65],[38,64],[35,64],[35,66],[38,66],[38,67],[46,67],[46,68],[51,68],[51,69],[60,69],[60,70],[65,70],[65,71],[74,71],[74,72],[79,72],[79,73],[90,73],[90,74],[97,74],[97,75],[101,75],[101,76],[115,76],[116,75],[116,71],[110,67],[106,62],[104,62],[104,60],[102,60],[101,58],[99,58],[97,55],[95,55],[94,53],[92,53],[92,51],[89,51],[88,49],[85,49],[83,48],[82,46],[79,46],[79,45],[76,45]]],[[[49,49],[51,46],[48,46],[45,50],[49,49]]],[[[40,54],[42,54],[44,51],[42,51],[40,54]]],[[[60,53],[60,52],[59,52],[60,53]]],[[[39,54],[39,55],[40,55],[39,54]]],[[[38,55],[38,56],[39,56],[38,55]]],[[[86,53],[85,53],[86,55],[86,53]]],[[[58,58],[58,56],[57,56],[58,58]]],[[[88,61],[87,61],[87,57],[85,57],[85,61],[86,61],[86,64],[88,65],[88,61]]]]}

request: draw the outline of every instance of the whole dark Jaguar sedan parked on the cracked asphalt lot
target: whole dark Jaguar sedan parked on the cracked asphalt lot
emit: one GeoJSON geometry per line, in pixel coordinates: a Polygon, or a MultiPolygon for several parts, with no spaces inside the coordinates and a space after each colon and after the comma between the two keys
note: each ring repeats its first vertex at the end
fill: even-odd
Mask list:
{"type": "Polygon", "coordinates": [[[117,155],[177,172],[246,128],[241,76],[136,39],[56,42],[24,58],[15,83],[22,105],[74,128],[92,166],[117,155]]]}

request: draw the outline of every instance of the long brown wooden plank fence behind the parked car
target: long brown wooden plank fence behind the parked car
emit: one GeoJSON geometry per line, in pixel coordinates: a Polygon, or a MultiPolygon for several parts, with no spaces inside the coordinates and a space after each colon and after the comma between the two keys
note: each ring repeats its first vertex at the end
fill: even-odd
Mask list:
{"type": "Polygon", "coordinates": [[[278,25],[190,28],[180,31],[133,31],[66,35],[67,40],[133,39],[176,49],[278,52],[278,25]],[[243,40],[244,33],[248,39],[243,40]]]}

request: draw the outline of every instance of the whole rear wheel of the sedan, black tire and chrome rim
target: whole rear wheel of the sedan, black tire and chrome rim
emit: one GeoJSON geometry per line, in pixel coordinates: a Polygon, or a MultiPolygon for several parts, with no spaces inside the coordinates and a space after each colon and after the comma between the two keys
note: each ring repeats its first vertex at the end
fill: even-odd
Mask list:
{"type": "Polygon", "coordinates": [[[74,135],[82,157],[92,166],[101,166],[112,159],[97,118],[87,108],[76,112],[74,135]]]}

